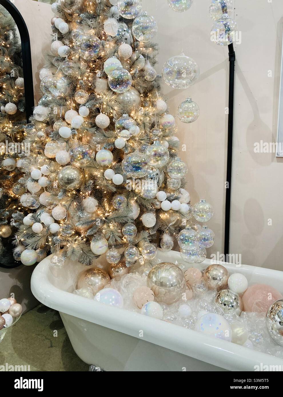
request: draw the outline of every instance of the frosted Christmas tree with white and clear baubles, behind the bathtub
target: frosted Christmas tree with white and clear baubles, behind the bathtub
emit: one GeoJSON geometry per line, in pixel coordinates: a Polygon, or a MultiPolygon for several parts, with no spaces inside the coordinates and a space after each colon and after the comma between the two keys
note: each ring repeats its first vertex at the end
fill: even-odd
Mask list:
{"type": "MultiPolygon", "coordinates": [[[[21,179],[29,191],[21,203],[35,211],[14,216],[26,248],[21,261],[33,264],[50,250],[58,267],[66,258],[89,265],[105,253],[114,265],[123,252],[125,266],[152,266],[157,247],[170,251],[180,230],[199,239],[155,70],[155,19],[140,0],[61,0],[52,10],[21,179]]],[[[212,216],[205,202],[194,211],[195,219],[212,216]]],[[[183,245],[186,258],[205,259],[204,247],[183,245]]]]}

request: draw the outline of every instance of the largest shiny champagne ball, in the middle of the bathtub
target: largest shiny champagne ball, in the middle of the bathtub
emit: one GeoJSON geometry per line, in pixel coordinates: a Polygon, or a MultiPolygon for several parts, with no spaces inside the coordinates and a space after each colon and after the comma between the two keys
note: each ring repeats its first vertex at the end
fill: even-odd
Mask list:
{"type": "Polygon", "coordinates": [[[164,262],[150,270],[147,287],[153,291],[156,302],[172,304],[182,298],[182,293],[186,290],[186,280],[178,266],[164,262]]]}

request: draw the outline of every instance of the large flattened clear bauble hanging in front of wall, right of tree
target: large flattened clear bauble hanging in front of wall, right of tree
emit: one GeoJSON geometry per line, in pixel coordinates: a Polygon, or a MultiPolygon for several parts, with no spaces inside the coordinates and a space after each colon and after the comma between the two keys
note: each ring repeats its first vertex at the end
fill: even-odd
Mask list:
{"type": "Polygon", "coordinates": [[[197,63],[184,53],[170,58],[162,69],[162,77],[170,87],[186,89],[193,85],[200,75],[197,63]]]}

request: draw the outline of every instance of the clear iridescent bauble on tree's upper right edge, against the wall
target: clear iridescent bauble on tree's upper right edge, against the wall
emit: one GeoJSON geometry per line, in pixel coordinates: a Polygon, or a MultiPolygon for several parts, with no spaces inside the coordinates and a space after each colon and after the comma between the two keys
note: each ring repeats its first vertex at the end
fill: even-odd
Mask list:
{"type": "Polygon", "coordinates": [[[139,41],[147,41],[153,39],[157,33],[157,24],[153,17],[143,11],[141,15],[136,17],[132,25],[134,37],[139,41]]]}

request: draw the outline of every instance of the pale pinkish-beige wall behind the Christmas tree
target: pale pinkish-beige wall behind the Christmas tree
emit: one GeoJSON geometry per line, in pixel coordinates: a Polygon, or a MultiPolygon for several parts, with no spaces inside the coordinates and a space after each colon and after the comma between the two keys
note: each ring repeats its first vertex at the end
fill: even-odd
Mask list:
{"type": "MultiPolygon", "coordinates": [[[[283,164],[274,154],[253,152],[254,142],[276,139],[283,2],[269,1],[236,1],[235,19],[242,32],[242,43],[235,46],[231,252],[242,254],[242,263],[282,269],[283,164]],[[272,77],[267,77],[269,70],[272,77]],[[269,218],[271,226],[267,225],[269,218]]],[[[174,116],[178,104],[188,95],[200,106],[200,117],[192,125],[177,121],[178,137],[186,144],[181,156],[189,166],[192,202],[205,197],[214,208],[209,226],[216,239],[211,252],[223,252],[229,64],[227,48],[209,40],[213,23],[208,15],[209,3],[196,0],[190,10],[180,14],[174,13],[165,0],[143,0],[143,7],[156,18],[159,28],[158,72],[161,73],[168,58],[182,50],[200,66],[200,79],[193,87],[174,90],[163,83],[163,92],[174,116]]],[[[49,46],[53,13],[49,5],[32,0],[15,0],[15,4],[30,31],[38,98],[38,71],[49,46]]]]}

